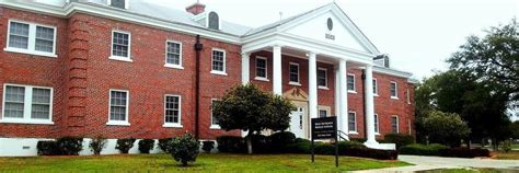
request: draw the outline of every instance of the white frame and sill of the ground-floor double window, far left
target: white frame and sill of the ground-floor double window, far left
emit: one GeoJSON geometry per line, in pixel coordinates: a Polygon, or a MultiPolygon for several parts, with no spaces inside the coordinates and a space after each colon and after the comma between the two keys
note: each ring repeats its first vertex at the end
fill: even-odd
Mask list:
{"type": "Polygon", "coordinates": [[[48,86],[37,86],[37,85],[25,85],[25,84],[14,84],[14,83],[3,83],[3,94],[2,94],[2,113],[0,123],[8,124],[38,124],[38,125],[54,125],[53,122],[53,107],[54,107],[54,89],[48,86]],[[24,88],[24,101],[23,101],[23,118],[9,118],[4,117],[5,113],[5,94],[7,86],[21,86],[24,88]],[[49,95],[49,107],[48,107],[48,119],[35,119],[31,118],[32,105],[33,105],[33,89],[47,89],[50,90],[49,95]]]}

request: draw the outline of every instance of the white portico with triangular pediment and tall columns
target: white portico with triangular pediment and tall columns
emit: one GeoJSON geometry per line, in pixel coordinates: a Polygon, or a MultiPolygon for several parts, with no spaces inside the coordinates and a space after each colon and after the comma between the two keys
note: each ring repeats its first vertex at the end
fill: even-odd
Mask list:
{"type": "MultiPolygon", "coordinates": [[[[242,46],[242,82],[250,77],[250,55],[256,51],[272,53],[272,83],[275,94],[284,94],[282,55],[290,55],[308,60],[308,118],[300,120],[301,126],[309,125],[309,118],[318,117],[318,62],[334,66],[335,71],[335,115],[338,129],[348,131],[347,69],[364,69],[366,80],[364,90],[366,100],[366,146],[390,149],[380,145],[374,134],[374,104],[372,88],[373,57],[380,55],[377,48],[359,28],[335,4],[330,3],[308,13],[251,31],[243,38],[242,46]]],[[[303,114],[307,115],[307,114],[303,114]]],[[[302,127],[301,127],[302,129],[302,127]]],[[[305,128],[305,131],[309,131],[305,128]]],[[[309,137],[308,134],[305,137],[309,137]]],[[[394,146],[393,146],[394,147],[394,146]]]]}

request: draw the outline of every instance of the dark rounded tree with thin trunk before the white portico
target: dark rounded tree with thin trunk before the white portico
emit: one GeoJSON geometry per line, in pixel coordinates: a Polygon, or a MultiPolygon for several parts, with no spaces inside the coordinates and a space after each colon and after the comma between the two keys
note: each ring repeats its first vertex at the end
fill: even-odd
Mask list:
{"type": "Polygon", "coordinates": [[[212,116],[222,129],[249,131],[245,137],[249,153],[252,153],[251,137],[254,132],[287,129],[290,112],[296,108],[282,96],[261,91],[254,84],[231,88],[211,106],[212,116]]]}

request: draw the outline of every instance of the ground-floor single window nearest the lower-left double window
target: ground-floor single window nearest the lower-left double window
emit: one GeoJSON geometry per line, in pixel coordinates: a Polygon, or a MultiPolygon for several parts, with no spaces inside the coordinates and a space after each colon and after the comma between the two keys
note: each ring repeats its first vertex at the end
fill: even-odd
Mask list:
{"type": "Polygon", "coordinates": [[[129,126],[129,91],[109,90],[108,123],[106,125],[129,126]]]}

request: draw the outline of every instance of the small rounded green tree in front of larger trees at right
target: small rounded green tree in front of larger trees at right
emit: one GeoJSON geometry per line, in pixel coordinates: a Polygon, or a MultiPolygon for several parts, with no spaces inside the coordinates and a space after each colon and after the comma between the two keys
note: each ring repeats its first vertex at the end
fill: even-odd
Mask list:
{"type": "Polygon", "coordinates": [[[431,142],[438,142],[455,147],[460,139],[469,137],[471,129],[458,114],[430,112],[429,116],[422,119],[424,129],[431,142]]]}

